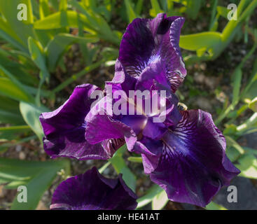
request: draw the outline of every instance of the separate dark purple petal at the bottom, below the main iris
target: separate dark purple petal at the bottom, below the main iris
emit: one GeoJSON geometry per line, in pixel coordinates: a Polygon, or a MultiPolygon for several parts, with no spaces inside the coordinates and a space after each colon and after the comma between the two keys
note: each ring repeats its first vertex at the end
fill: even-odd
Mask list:
{"type": "Polygon", "coordinates": [[[106,179],[97,168],[63,181],[53,194],[50,209],[133,210],[137,195],[126,186],[122,175],[106,179]]]}

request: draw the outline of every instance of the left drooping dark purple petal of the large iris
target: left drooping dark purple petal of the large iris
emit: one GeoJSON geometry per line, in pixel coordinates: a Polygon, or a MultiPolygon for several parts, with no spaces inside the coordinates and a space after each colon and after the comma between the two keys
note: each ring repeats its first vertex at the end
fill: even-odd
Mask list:
{"type": "Polygon", "coordinates": [[[90,99],[95,90],[99,90],[95,85],[79,85],[59,109],[41,114],[39,120],[45,134],[43,146],[51,158],[106,160],[113,155],[113,151],[105,150],[101,143],[89,144],[85,140],[85,116],[95,101],[90,99]]]}

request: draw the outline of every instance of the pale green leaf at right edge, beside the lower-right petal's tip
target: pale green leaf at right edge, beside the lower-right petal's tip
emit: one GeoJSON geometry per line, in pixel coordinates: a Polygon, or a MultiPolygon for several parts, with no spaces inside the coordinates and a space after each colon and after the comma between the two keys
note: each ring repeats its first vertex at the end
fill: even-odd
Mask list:
{"type": "Polygon", "coordinates": [[[239,176],[257,179],[257,160],[253,154],[247,153],[246,155],[242,155],[237,161],[239,165],[235,166],[241,171],[239,176]]]}

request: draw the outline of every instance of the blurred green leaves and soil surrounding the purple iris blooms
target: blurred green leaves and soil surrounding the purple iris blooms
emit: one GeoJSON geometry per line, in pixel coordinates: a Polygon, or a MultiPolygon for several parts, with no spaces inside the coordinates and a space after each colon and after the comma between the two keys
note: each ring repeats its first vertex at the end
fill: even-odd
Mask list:
{"type": "MultiPolygon", "coordinates": [[[[76,85],[104,87],[127,25],[158,13],[186,18],[180,46],[188,76],[179,99],[212,113],[240,176],[257,179],[256,136],[252,148],[242,142],[257,131],[256,7],[257,0],[0,0],[0,209],[39,209],[46,191],[93,164],[49,160],[39,114],[60,106],[76,85]],[[27,20],[17,18],[20,3],[27,20]],[[237,5],[237,20],[227,19],[228,3],[237,5]],[[27,186],[27,203],[16,201],[20,185],[27,186]]],[[[122,148],[95,165],[106,176],[123,173],[140,196],[139,209],[174,209],[160,187],[144,186],[138,155],[122,148]]],[[[206,209],[225,208],[211,202],[206,209]]]]}

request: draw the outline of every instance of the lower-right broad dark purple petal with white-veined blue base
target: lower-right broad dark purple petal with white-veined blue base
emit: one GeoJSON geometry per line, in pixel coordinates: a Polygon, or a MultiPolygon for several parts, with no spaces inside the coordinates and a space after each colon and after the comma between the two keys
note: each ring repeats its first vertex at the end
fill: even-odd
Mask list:
{"type": "Polygon", "coordinates": [[[225,138],[209,113],[181,114],[175,130],[162,137],[162,156],[150,177],[170,200],[205,207],[239,170],[226,157],[225,138]]]}

